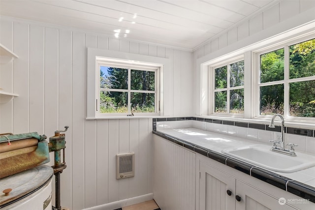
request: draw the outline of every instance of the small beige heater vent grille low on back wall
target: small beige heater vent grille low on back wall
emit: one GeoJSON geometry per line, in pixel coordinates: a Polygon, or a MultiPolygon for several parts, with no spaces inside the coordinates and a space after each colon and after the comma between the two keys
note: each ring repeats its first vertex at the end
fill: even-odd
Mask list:
{"type": "Polygon", "coordinates": [[[116,178],[124,179],[134,176],[134,153],[117,154],[116,178]]]}

